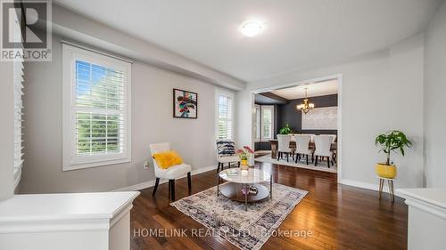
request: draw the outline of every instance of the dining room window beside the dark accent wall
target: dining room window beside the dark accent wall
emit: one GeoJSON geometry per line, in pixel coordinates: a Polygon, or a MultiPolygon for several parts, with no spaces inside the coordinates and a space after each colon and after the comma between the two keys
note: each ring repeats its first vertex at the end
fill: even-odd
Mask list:
{"type": "Polygon", "coordinates": [[[271,140],[274,138],[274,106],[255,105],[256,141],[271,140]]]}

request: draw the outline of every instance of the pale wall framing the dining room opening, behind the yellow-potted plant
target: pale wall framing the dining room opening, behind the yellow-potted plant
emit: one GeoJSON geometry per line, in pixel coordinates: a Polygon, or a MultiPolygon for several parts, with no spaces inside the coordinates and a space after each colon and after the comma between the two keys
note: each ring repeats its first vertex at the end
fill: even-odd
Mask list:
{"type": "MultiPolygon", "coordinates": [[[[377,134],[400,129],[414,147],[406,157],[392,155],[399,166],[397,187],[423,185],[423,63],[424,36],[420,34],[389,50],[368,54],[350,62],[271,77],[248,83],[237,93],[245,98],[256,89],[343,74],[341,179],[345,183],[377,187],[375,165],[384,161],[374,140],[377,134]]],[[[239,101],[239,105],[245,102],[239,101]]],[[[238,107],[238,109],[245,109],[238,107]]],[[[240,118],[240,117],[239,117],[240,118]]],[[[251,143],[251,121],[239,119],[237,141],[251,143]]]]}

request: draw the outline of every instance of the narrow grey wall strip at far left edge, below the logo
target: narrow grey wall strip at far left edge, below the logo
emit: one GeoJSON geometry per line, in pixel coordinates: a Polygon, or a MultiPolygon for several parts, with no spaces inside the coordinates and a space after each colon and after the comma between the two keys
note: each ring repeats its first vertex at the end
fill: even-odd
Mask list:
{"type": "Polygon", "coordinates": [[[0,62],[0,200],[14,192],[14,85],[12,62],[0,62]]]}

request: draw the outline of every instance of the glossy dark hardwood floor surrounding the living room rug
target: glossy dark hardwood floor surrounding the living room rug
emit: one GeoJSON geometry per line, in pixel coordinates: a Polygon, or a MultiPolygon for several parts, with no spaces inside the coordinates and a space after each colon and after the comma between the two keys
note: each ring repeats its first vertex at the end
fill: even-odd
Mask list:
{"type": "MultiPolygon", "coordinates": [[[[406,249],[408,208],[401,198],[377,198],[377,192],[336,183],[335,173],[257,163],[272,170],[274,181],[310,193],[280,225],[279,230],[311,230],[309,238],[271,237],[262,249],[406,249]]],[[[215,171],[194,175],[197,193],[217,184],[215,171]]],[[[186,178],[176,183],[177,199],[188,196],[186,178]]],[[[223,238],[196,237],[203,229],[186,214],[169,206],[168,185],[141,191],[131,212],[131,249],[236,249],[223,238]],[[144,229],[147,229],[146,231],[144,229]],[[150,229],[185,229],[187,237],[144,237],[150,229]],[[142,232],[134,237],[134,231],[142,232]]],[[[230,214],[228,214],[230,216],[230,214]]]]}

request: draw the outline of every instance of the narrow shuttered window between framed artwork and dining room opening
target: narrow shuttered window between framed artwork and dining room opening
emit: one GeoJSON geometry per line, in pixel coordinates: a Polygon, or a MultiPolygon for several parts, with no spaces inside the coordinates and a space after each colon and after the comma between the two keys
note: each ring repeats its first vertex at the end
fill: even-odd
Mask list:
{"type": "Polygon", "coordinates": [[[216,92],[216,136],[217,139],[233,139],[234,94],[216,92]]]}

